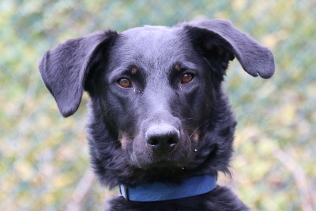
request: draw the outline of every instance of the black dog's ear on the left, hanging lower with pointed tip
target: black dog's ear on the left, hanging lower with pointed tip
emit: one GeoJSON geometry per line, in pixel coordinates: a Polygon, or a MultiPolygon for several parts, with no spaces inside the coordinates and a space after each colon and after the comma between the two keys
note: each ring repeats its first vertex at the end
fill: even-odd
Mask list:
{"type": "Polygon", "coordinates": [[[108,50],[115,36],[115,31],[106,31],[66,40],[40,60],[40,74],[64,117],[78,109],[90,69],[100,61],[100,52],[108,50]]]}

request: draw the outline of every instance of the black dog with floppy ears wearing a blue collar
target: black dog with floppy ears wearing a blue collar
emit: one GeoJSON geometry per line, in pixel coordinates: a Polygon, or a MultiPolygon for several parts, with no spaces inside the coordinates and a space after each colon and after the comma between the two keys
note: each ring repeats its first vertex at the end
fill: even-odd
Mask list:
{"type": "Polygon", "coordinates": [[[274,73],[271,51],[225,20],[98,32],[45,53],[40,73],[64,117],[89,93],[91,163],[124,196],[108,210],[248,210],[216,186],[233,152],[221,84],[234,57],[252,76],[274,73]]]}

